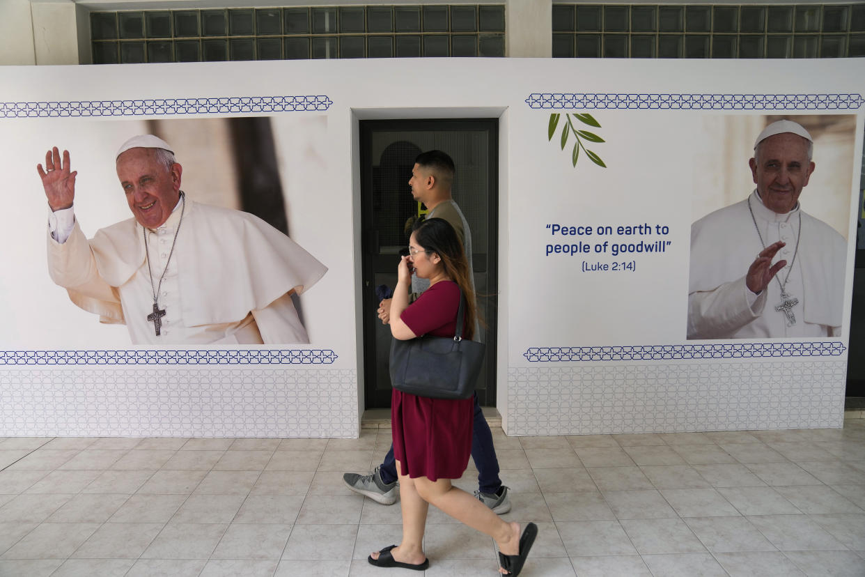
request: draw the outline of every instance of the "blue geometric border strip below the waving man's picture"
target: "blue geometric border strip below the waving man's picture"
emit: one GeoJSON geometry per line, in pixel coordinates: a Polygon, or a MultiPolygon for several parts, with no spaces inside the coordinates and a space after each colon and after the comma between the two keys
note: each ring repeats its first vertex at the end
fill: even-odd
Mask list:
{"type": "Polygon", "coordinates": [[[328,349],[0,351],[0,365],[322,365],[337,358],[328,349]]]}

